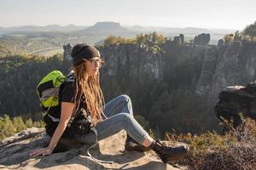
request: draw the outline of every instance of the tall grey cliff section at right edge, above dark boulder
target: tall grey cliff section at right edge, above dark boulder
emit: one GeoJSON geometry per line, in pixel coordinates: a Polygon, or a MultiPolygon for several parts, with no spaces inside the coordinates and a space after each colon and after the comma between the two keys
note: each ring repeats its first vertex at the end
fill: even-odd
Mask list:
{"type": "Polygon", "coordinates": [[[224,88],[255,80],[256,42],[232,42],[207,49],[196,93],[215,100],[224,88]]]}

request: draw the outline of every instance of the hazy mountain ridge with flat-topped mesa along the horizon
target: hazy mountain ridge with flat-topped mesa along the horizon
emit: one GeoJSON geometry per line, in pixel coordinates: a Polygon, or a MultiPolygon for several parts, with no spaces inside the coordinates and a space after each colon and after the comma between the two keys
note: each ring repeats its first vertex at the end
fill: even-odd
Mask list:
{"type": "Polygon", "coordinates": [[[219,33],[219,34],[229,34],[234,33],[236,30],[229,29],[207,29],[207,28],[196,28],[196,27],[163,27],[163,26],[121,26],[119,22],[113,21],[102,21],[96,22],[94,26],[59,26],[59,25],[48,25],[48,26],[13,26],[13,27],[2,27],[0,26],[0,35],[16,32],[16,31],[78,31],[79,33],[114,33],[114,32],[152,32],[158,31],[163,33],[219,33]]]}

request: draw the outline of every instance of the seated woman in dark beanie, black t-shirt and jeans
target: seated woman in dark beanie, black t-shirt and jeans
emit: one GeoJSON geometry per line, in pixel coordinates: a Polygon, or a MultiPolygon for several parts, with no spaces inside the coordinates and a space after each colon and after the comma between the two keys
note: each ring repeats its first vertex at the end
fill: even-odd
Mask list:
{"type": "Polygon", "coordinates": [[[131,99],[128,96],[121,95],[103,106],[104,99],[99,84],[99,69],[102,59],[96,48],[87,44],[77,44],[73,47],[71,56],[74,81],[73,83],[64,83],[61,89],[61,113],[60,117],[57,117],[60,118],[60,121],[53,127],[46,126],[47,133],[52,136],[48,147],[33,150],[30,156],[50,155],[61,136],[71,137],[79,142],[91,143],[90,140],[95,135],[90,131],[90,127],[95,127],[98,140],[125,129],[128,134],[126,150],[152,149],[163,162],[172,161],[187,153],[188,147],[186,146],[168,147],[152,139],[134,119],[131,99]],[[73,117],[75,117],[74,120],[73,117]],[[75,122],[81,121],[90,122],[91,126],[84,126],[82,130],[73,128],[75,122]],[[49,129],[53,129],[52,133],[49,129]]]}

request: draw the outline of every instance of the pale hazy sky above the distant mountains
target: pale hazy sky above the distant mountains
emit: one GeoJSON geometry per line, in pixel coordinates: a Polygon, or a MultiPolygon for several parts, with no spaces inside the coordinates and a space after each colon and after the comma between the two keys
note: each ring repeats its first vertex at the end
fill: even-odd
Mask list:
{"type": "Polygon", "coordinates": [[[0,0],[0,26],[201,27],[241,30],[256,20],[256,0],[0,0]]]}

